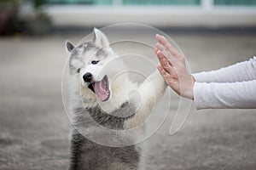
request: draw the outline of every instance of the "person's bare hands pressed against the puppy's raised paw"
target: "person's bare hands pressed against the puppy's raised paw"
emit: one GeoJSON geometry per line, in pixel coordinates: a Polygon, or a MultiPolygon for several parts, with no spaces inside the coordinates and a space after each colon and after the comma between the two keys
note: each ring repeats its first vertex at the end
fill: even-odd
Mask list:
{"type": "Polygon", "coordinates": [[[157,66],[160,74],[178,95],[194,99],[195,78],[189,75],[186,69],[185,57],[173,48],[165,37],[157,34],[155,38],[158,41],[155,54],[160,60],[160,65],[157,66]]]}

